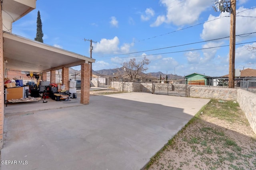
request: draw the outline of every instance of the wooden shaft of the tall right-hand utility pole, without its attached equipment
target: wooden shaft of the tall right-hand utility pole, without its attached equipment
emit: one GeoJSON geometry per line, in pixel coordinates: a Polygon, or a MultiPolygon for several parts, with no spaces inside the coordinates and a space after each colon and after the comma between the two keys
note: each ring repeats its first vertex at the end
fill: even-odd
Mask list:
{"type": "Polygon", "coordinates": [[[235,87],[235,51],[236,51],[236,0],[230,3],[230,42],[229,42],[229,74],[228,88],[235,87]]]}

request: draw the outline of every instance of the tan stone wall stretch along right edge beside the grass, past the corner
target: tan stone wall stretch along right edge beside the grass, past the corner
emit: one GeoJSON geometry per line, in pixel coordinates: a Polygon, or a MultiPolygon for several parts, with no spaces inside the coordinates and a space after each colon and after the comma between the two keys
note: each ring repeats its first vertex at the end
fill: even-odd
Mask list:
{"type": "Polygon", "coordinates": [[[256,94],[243,89],[237,90],[237,102],[256,133],[256,94]]]}

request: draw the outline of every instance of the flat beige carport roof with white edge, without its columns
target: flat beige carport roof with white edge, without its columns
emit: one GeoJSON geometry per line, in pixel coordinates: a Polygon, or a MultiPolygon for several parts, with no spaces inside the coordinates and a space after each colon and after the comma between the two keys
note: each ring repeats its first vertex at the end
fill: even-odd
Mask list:
{"type": "Polygon", "coordinates": [[[94,63],[95,59],[5,32],[4,60],[10,70],[48,72],[62,67],[94,63]]]}

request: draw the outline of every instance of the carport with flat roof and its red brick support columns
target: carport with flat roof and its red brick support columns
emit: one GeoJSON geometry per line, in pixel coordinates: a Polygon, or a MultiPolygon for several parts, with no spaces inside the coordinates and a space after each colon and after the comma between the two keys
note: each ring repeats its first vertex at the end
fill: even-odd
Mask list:
{"type": "Polygon", "coordinates": [[[95,59],[7,32],[3,34],[3,38],[4,69],[42,73],[42,80],[46,80],[46,73],[50,72],[50,83],[56,83],[55,70],[62,69],[62,84],[68,90],[69,67],[81,65],[83,96],[80,102],[89,103],[90,63],[94,63],[95,59]]]}

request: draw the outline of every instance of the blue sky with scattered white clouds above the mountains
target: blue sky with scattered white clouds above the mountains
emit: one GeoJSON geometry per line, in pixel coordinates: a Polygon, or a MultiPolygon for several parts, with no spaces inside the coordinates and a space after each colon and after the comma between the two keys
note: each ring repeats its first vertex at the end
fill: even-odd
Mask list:
{"type": "MultiPolygon", "coordinates": [[[[35,10],[13,23],[12,33],[34,39],[39,10],[44,43],[90,57],[90,41],[84,39],[97,42],[93,70],[119,68],[146,55],[146,72],[222,76],[229,68],[229,38],[223,38],[230,34],[230,14],[214,12],[214,2],[37,0],[35,10]],[[204,49],[209,47],[218,48],[204,49]]],[[[256,47],[255,32],[256,1],[238,0],[236,69],[256,69],[256,52],[250,51],[256,47]]]]}

